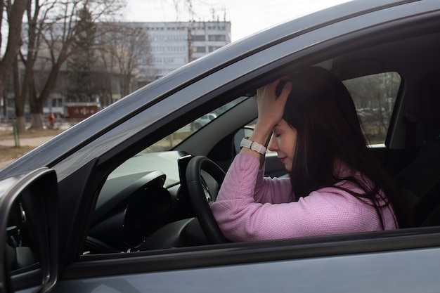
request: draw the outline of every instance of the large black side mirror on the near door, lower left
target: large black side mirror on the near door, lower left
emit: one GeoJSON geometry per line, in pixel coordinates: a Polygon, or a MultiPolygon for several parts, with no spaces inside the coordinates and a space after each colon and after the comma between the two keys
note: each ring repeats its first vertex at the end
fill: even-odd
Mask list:
{"type": "Polygon", "coordinates": [[[37,169],[0,181],[0,292],[50,289],[58,274],[56,172],[37,169]]]}

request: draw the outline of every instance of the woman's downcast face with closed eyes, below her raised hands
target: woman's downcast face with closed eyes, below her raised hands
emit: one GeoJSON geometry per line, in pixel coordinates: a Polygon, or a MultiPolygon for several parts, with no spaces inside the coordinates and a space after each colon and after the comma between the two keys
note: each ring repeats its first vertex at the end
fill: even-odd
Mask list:
{"type": "Polygon", "coordinates": [[[277,152],[278,159],[283,162],[285,169],[292,171],[297,145],[297,129],[290,127],[285,119],[282,119],[273,127],[272,131],[273,134],[268,149],[277,152]]]}

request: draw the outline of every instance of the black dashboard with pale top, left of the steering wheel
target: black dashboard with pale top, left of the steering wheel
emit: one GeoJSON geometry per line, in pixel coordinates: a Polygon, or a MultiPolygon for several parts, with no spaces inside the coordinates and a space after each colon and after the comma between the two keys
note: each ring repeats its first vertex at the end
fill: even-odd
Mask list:
{"type": "MultiPolygon", "coordinates": [[[[112,171],[98,196],[84,254],[207,244],[186,189],[192,157],[181,151],[138,154],[112,171]]],[[[204,182],[218,192],[208,174],[204,182]]]]}

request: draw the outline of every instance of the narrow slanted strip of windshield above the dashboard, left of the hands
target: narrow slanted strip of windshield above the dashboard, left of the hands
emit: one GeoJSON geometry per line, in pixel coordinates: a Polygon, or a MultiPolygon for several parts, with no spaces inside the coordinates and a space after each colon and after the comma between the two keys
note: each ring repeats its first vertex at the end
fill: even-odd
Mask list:
{"type": "Polygon", "coordinates": [[[206,124],[212,122],[214,119],[222,115],[224,112],[230,110],[233,108],[233,106],[237,105],[238,103],[242,102],[243,100],[247,99],[247,96],[243,96],[240,98],[236,98],[235,100],[226,103],[225,105],[222,105],[221,107],[217,108],[216,110],[213,110],[211,112],[206,113],[205,115],[202,115],[198,119],[195,119],[190,124],[187,124],[183,126],[181,129],[178,129],[177,131],[174,131],[169,136],[166,136],[162,138],[162,140],[157,141],[157,143],[150,145],[150,147],[143,150],[143,152],[160,152],[160,151],[166,151],[171,150],[176,145],[184,141],[188,136],[195,133],[199,129],[201,129],[206,124]]]}

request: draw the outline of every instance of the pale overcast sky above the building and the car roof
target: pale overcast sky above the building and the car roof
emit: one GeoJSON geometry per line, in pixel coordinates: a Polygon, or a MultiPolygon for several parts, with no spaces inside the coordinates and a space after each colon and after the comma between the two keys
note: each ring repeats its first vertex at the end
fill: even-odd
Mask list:
{"type": "MultiPolygon", "coordinates": [[[[128,22],[188,21],[183,8],[176,12],[173,0],[127,0],[128,22]]],[[[180,0],[184,3],[188,0],[180,0]]],[[[350,0],[192,0],[196,21],[231,22],[231,40],[237,41],[292,18],[350,0]]]]}

